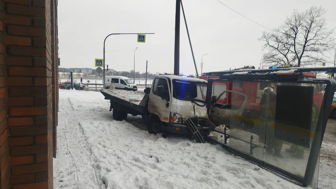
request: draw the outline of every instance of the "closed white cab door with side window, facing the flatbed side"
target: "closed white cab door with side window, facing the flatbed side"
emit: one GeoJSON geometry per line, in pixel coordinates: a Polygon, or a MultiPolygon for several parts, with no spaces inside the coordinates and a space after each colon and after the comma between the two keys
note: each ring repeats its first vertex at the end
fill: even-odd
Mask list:
{"type": "Polygon", "coordinates": [[[163,122],[169,122],[170,105],[171,105],[171,90],[168,80],[166,78],[156,78],[154,80],[153,88],[151,89],[148,110],[152,114],[156,114],[163,122]],[[164,97],[159,96],[158,87],[163,86],[164,97]]]}

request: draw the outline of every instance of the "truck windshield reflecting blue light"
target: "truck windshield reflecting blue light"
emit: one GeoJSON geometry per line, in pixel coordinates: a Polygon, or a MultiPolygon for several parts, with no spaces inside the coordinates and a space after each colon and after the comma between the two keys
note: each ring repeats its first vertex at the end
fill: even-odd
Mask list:
{"type": "Polygon", "coordinates": [[[195,82],[187,80],[173,80],[173,97],[179,100],[190,100],[205,102],[202,97],[201,88],[206,87],[204,82],[195,82]]]}

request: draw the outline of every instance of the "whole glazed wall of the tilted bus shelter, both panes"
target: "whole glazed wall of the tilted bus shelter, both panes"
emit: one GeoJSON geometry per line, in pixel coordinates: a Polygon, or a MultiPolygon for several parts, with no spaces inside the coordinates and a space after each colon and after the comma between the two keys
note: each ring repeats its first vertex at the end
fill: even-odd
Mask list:
{"type": "MultiPolygon", "coordinates": [[[[308,158],[320,153],[324,85],[239,82],[233,91],[245,94],[247,102],[243,112],[232,112],[229,149],[299,182],[310,175],[308,186],[317,188],[319,159],[308,158]]],[[[232,107],[241,101],[232,95],[232,107]]]]}

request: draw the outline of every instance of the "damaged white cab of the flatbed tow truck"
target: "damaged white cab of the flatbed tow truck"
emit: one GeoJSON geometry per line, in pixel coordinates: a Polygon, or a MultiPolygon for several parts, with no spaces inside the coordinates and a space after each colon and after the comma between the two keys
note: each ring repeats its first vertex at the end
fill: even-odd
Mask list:
{"type": "MultiPolygon", "coordinates": [[[[207,81],[198,78],[175,75],[160,75],[153,81],[149,94],[149,132],[160,130],[177,134],[191,134],[186,118],[195,122],[203,136],[215,128],[207,115],[203,88],[207,81]]],[[[206,91],[205,91],[206,92],[206,91]]]]}

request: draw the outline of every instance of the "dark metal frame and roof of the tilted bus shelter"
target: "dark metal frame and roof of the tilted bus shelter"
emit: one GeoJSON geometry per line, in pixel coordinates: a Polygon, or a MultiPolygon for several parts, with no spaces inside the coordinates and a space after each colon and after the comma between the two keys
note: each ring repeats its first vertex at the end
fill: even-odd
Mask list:
{"type": "MultiPolygon", "coordinates": [[[[326,130],[326,125],[329,117],[330,106],[332,104],[333,96],[335,93],[336,82],[331,79],[304,79],[303,73],[317,73],[317,72],[325,72],[325,73],[336,73],[336,67],[324,67],[324,68],[280,68],[280,69],[264,69],[264,70],[252,70],[252,69],[243,69],[243,70],[230,70],[230,71],[222,71],[222,72],[209,72],[205,73],[207,76],[219,76],[218,79],[209,79],[208,80],[208,88],[207,88],[207,97],[212,96],[212,90],[209,86],[212,86],[214,81],[245,81],[245,82],[291,82],[291,83],[323,83],[325,84],[325,92],[324,92],[324,101],[323,101],[323,111],[320,111],[318,126],[315,131],[319,133],[321,131],[321,135],[314,135],[313,141],[311,145],[311,150],[308,156],[306,171],[304,177],[299,177],[288,171],[285,171],[279,167],[273,166],[271,164],[267,164],[264,161],[260,161],[254,157],[246,157],[242,152],[232,149],[229,146],[224,146],[224,148],[232,151],[240,156],[247,158],[248,160],[255,162],[259,165],[263,165],[273,171],[280,173],[290,179],[293,179],[303,186],[308,186],[312,178],[314,176],[314,172],[316,169],[317,161],[319,159],[319,152],[322,144],[322,140],[324,137],[324,133],[326,130]],[[321,137],[321,141],[319,140],[321,137]]],[[[207,111],[210,111],[211,107],[211,99],[207,98],[206,105],[207,111]]],[[[251,149],[253,150],[253,149],[251,149]]]]}

